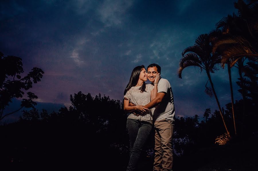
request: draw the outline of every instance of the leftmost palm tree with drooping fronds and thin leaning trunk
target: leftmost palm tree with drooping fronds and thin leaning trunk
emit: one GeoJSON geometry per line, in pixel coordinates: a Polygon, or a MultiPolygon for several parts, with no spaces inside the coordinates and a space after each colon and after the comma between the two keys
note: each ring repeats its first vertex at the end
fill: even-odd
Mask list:
{"type": "Polygon", "coordinates": [[[202,70],[206,71],[206,74],[210,81],[210,85],[212,87],[212,92],[218,104],[222,121],[224,123],[228,137],[230,138],[230,134],[229,134],[228,128],[226,127],[226,123],[224,120],[224,116],[222,114],[220,103],[218,101],[218,97],[216,95],[214,85],[212,83],[212,79],[210,76],[210,73],[214,73],[214,70],[217,69],[216,65],[221,61],[219,55],[217,55],[216,53],[212,54],[212,42],[210,41],[210,39],[211,39],[211,36],[209,34],[201,34],[196,39],[195,44],[193,46],[189,46],[183,50],[182,58],[179,62],[178,77],[182,78],[181,74],[183,69],[189,66],[196,66],[196,67],[199,67],[200,71],[202,70]]]}

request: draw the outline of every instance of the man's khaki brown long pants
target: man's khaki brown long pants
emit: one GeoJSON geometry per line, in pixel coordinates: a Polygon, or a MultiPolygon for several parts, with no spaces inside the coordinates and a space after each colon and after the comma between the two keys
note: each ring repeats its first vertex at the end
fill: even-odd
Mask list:
{"type": "Polygon", "coordinates": [[[172,136],[174,125],[169,119],[155,121],[155,157],[153,170],[172,170],[173,147],[172,136]]]}

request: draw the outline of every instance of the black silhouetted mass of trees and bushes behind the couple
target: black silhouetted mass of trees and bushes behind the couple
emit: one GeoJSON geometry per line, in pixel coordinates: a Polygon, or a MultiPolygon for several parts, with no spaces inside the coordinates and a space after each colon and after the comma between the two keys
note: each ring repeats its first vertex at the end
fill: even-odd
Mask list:
{"type": "MultiPolygon", "coordinates": [[[[93,98],[91,94],[85,95],[82,92],[71,95],[70,99],[72,106],[69,109],[64,107],[59,112],[51,113],[46,110],[24,110],[18,122],[0,126],[4,140],[1,149],[2,166],[13,170],[46,170],[50,166],[58,170],[106,170],[112,167],[114,168],[111,170],[126,170],[129,154],[127,114],[123,111],[123,104],[108,96],[99,94],[93,98]]],[[[257,115],[253,112],[257,105],[248,104],[247,117],[252,119],[248,125],[243,126],[242,100],[235,103],[237,126],[245,133],[239,139],[243,139],[245,143],[247,139],[258,135],[255,126],[257,115]]],[[[226,123],[233,128],[231,108],[231,103],[228,103],[222,111],[226,123]]],[[[232,141],[232,145],[228,147],[214,144],[215,138],[224,133],[224,127],[218,111],[211,114],[211,117],[210,114],[210,109],[206,109],[201,121],[198,115],[175,118],[174,170],[205,167],[205,162],[212,162],[205,155],[218,162],[222,160],[220,153],[226,155],[225,151],[229,151],[228,157],[234,158],[234,148],[241,141],[232,141]],[[190,157],[196,159],[189,159],[190,157]],[[191,165],[184,165],[185,160],[191,165]]],[[[151,135],[142,153],[139,170],[152,170],[153,139],[151,135]]],[[[247,160],[244,162],[248,163],[247,160]]],[[[231,166],[233,167],[232,163],[227,168],[231,166]]]]}

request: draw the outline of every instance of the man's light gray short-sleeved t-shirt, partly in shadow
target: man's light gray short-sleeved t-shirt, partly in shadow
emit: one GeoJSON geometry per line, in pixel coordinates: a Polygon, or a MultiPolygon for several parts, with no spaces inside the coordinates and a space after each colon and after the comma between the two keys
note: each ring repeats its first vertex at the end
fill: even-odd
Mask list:
{"type": "Polygon", "coordinates": [[[158,93],[164,92],[165,96],[161,103],[152,109],[153,121],[164,118],[174,121],[175,108],[171,85],[167,79],[161,78],[158,83],[158,93]]]}

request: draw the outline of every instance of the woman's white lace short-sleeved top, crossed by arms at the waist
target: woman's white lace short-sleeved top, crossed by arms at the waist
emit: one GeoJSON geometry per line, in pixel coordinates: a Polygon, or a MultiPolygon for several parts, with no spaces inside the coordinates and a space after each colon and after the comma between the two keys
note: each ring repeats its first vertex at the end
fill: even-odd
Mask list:
{"type": "MultiPolygon", "coordinates": [[[[151,90],[154,89],[154,85],[146,84],[146,88],[145,88],[146,92],[142,92],[142,93],[141,93],[140,88],[141,88],[141,86],[130,88],[126,92],[126,95],[124,95],[124,98],[127,98],[128,100],[130,100],[130,102],[132,102],[135,105],[144,106],[144,105],[148,104],[150,102],[150,92],[151,92],[151,90]]],[[[152,123],[151,110],[147,110],[140,116],[136,116],[131,113],[127,118],[128,119],[136,119],[136,120],[140,120],[140,121],[147,121],[147,122],[152,123]]]]}

